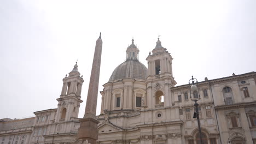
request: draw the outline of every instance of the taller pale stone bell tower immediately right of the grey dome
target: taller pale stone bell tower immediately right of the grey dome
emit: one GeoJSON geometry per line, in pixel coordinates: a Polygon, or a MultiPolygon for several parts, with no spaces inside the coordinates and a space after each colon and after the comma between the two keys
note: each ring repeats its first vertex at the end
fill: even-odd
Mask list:
{"type": "Polygon", "coordinates": [[[149,52],[147,93],[148,108],[172,106],[170,87],[176,85],[172,75],[172,56],[166,48],[162,47],[158,38],[155,49],[149,52]]]}

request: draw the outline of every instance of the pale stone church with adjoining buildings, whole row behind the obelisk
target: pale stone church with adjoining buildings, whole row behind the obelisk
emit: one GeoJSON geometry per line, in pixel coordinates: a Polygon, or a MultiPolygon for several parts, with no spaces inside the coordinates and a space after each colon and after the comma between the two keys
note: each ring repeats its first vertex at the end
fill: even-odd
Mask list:
{"type": "MultiPolygon", "coordinates": [[[[194,98],[200,98],[203,143],[256,143],[256,73],[246,73],[175,86],[172,56],[158,39],[147,57],[138,61],[132,40],[126,61],[103,85],[101,114],[97,116],[100,144],[200,143],[194,98]]],[[[73,143],[80,126],[78,112],[83,77],[78,65],[63,79],[57,109],[34,112],[35,117],[0,119],[1,144],[73,143]]]]}

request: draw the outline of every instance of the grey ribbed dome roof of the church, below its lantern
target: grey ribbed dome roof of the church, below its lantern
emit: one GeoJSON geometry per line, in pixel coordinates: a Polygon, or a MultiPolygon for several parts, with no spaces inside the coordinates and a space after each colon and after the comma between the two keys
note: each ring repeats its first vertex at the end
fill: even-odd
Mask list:
{"type": "Polygon", "coordinates": [[[147,78],[147,68],[144,64],[136,59],[126,59],[125,62],[118,65],[109,78],[109,81],[115,81],[119,79],[143,79],[147,78]]]}

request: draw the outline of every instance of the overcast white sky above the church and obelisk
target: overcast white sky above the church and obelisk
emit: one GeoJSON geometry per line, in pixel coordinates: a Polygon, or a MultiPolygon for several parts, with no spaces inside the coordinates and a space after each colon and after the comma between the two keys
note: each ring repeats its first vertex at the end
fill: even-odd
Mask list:
{"type": "MultiPolygon", "coordinates": [[[[135,39],[139,61],[162,46],[177,85],[256,71],[256,1],[0,1],[0,118],[57,107],[78,59],[83,117],[95,43],[102,32],[99,90],[135,39]]],[[[101,95],[98,94],[97,114],[101,95]]]]}

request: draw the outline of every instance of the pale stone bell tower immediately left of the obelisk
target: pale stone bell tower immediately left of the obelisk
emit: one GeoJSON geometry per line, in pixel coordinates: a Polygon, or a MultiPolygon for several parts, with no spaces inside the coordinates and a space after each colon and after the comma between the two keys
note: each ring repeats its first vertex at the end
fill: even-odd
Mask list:
{"type": "Polygon", "coordinates": [[[75,63],[73,70],[64,77],[63,86],[55,117],[56,122],[69,121],[72,117],[77,118],[81,100],[83,76],[80,76],[78,65],[75,63]]]}

